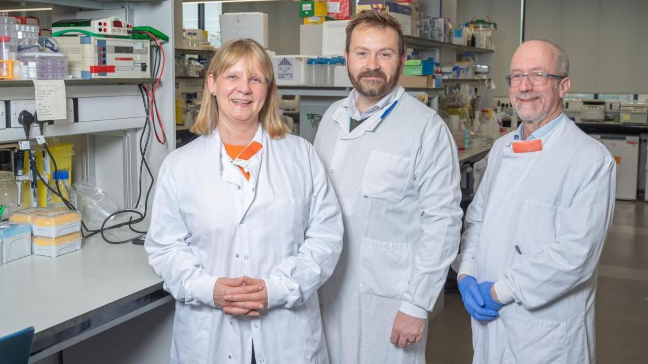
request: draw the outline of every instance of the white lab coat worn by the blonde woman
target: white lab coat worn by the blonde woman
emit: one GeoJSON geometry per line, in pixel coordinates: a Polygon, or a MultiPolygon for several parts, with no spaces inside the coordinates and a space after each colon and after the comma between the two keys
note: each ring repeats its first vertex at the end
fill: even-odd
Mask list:
{"type": "Polygon", "coordinates": [[[170,153],[157,177],[146,236],[149,262],[176,301],[171,362],[329,363],[316,290],[341,251],[340,207],[312,146],[286,135],[246,165],[246,181],[218,131],[170,153]],[[214,307],[217,277],[266,280],[260,317],[214,307]]]}

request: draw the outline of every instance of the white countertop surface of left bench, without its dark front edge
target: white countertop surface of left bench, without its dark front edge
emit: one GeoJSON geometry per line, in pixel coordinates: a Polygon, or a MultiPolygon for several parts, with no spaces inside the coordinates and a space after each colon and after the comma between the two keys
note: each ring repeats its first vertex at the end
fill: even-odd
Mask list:
{"type": "Polygon", "coordinates": [[[0,337],[28,326],[38,335],[161,284],[142,245],[112,245],[98,236],[56,258],[14,260],[0,266],[0,337]]]}

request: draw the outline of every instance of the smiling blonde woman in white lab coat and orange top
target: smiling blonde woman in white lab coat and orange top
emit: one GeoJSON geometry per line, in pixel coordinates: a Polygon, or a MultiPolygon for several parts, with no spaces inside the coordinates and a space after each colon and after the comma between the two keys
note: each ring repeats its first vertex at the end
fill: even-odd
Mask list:
{"type": "Polygon", "coordinates": [[[329,362],[317,289],[340,256],[340,207],[277,95],[266,51],[229,41],[199,137],[160,168],[145,247],[176,299],[172,363],[329,362]]]}

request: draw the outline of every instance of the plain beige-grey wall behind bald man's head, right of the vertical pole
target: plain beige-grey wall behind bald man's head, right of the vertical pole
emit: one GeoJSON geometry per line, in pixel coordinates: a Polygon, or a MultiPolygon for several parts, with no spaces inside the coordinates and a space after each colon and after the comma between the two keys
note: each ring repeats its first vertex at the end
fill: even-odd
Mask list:
{"type": "Polygon", "coordinates": [[[648,91],[648,1],[527,1],[526,14],[526,39],[548,38],[567,52],[571,92],[648,91]]]}

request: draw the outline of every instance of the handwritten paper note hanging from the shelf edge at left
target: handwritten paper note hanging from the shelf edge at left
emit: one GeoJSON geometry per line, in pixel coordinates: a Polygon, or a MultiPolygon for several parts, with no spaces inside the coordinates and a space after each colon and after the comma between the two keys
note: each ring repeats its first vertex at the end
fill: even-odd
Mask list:
{"type": "Polygon", "coordinates": [[[34,80],[34,89],[39,120],[67,119],[63,80],[34,80]]]}

